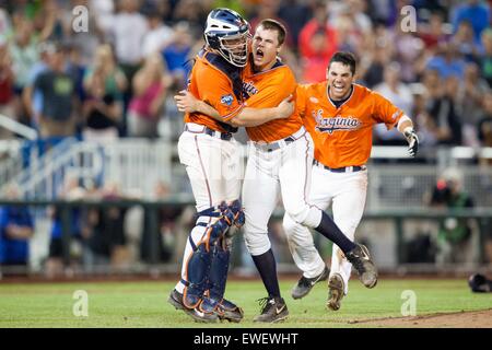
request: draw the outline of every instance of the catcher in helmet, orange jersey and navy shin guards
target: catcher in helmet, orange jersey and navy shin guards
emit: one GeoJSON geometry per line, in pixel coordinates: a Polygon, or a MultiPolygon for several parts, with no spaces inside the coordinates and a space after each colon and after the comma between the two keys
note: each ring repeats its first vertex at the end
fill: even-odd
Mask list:
{"type": "Polygon", "coordinates": [[[204,38],[207,45],[196,58],[188,89],[220,116],[185,115],[178,154],[191,183],[198,220],[185,248],[181,279],[168,302],[198,322],[239,322],[241,307],[223,298],[231,249],[226,232],[244,223],[238,201],[241,158],[233,138],[237,128],[227,122],[254,126],[288,117],[293,105],[285,101],[267,109],[244,106],[242,74],[250,34],[248,23],[236,12],[211,11],[204,38]]]}

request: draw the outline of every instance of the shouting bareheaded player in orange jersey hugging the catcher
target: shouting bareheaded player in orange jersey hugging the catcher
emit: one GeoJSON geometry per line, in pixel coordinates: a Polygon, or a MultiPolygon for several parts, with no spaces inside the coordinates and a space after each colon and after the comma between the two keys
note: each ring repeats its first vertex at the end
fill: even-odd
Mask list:
{"type": "MultiPolygon", "coordinates": [[[[278,59],[285,38],[284,27],[277,21],[263,20],[253,38],[253,65],[247,66],[243,78],[248,94],[245,105],[269,108],[293,94],[295,78],[290,68],[278,59]]],[[[180,97],[178,106],[219,116],[203,102],[189,102],[180,97]]],[[[194,100],[194,98],[191,98],[194,100]]],[[[268,221],[277,205],[279,194],[285,211],[295,222],[313,228],[338,244],[354,264],[361,281],[372,288],[377,282],[377,271],[367,249],[348,240],[329,215],[307,201],[314,144],[296,110],[286,119],[271,120],[255,127],[246,127],[251,140],[243,185],[243,205],[246,217],[244,237],[246,246],[260,273],[268,296],[261,300],[261,313],[255,322],[279,322],[289,311],[281,298],[274,256],[268,238],[268,221]]],[[[312,243],[306,231],[305,242],[312,243]]],[[[325,272],[328,277],[328,270],[325,272]]]]}

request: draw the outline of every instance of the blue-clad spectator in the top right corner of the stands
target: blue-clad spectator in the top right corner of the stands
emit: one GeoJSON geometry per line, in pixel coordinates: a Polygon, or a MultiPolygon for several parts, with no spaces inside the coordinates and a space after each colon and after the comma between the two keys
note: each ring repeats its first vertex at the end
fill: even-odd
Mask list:
{"type": "Polygon", "coordinates": [[[490,5],[480,0],[467,0],[466,3],[458,4],[452,13],[453,31],[456,33],[461,22],[468,21],[473,28],[473,37],[480,40],[482,31],[490,25],[490,5]]]}

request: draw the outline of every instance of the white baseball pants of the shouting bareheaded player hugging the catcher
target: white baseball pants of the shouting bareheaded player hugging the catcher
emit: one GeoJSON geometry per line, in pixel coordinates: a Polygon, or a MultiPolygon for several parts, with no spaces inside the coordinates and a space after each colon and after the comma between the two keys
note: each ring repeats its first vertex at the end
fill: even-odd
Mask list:
{"type": "MultiPolygon", "coordinates": [[[[295,141],[249,143],[248,163],[243,184],[243,206],[246,215],[244,238],[253,256],[271,247],[268,221],[277,207],[279,194],[286,212],[296,222],[316,228],[321,211],[307,202],[313,164],[314,143],[304,127],[292,136],[295,141]],[[270,148],[277,144],[278,148],[270,148]]],[[[313,243],[311,232],[298,236],[300,244],[313,243]]]]}

